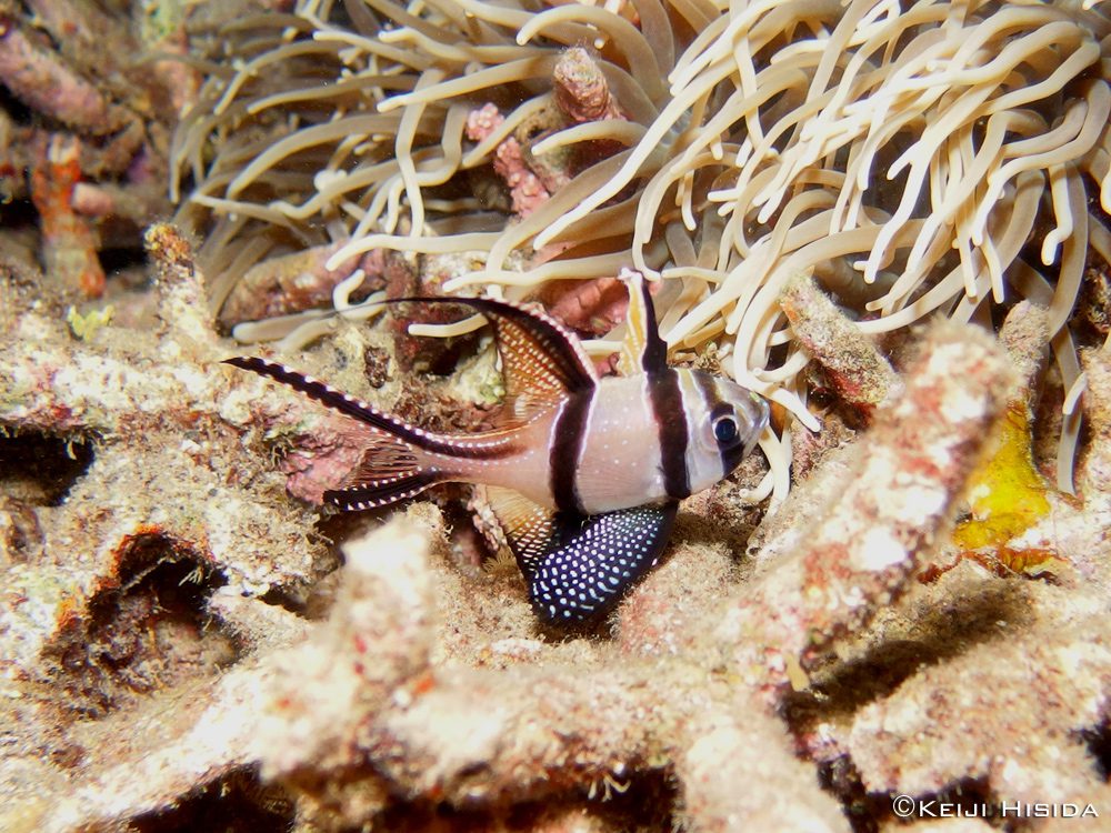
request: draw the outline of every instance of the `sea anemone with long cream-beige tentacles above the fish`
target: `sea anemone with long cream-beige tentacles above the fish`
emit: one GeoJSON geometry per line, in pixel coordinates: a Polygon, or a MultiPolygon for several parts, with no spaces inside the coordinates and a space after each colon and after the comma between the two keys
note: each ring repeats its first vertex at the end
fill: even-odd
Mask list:
{"type": "MultiPolygon", "coordinates": [[[[172,162],[196,190],[182,217],[217,218],[201,252],[222,275],[217,307],[298,250],[327,255],[356,314],[376,309],[379,295],[347,300],[383,250],[460,255],[470,265],[446,291],[513,298],[633,264],[663,282],[673,348],[713,343],[811,430],[811,357],[780,307],[799,273],[868,334],[1045,305],[1074,393],[1068,321],[1090,249],[1111,261],[1088,197],[1111,211],[1101,6],[301,0],[237,23],[230,63],[183,120],[172,162]],[[604,106],[583,118],[588,91],[604,106]],[[516,161],[499,157],[510,141],[516,161]],[[533,175],[536,199],[491,199],[491,170],[510,189],[533,175]]],[[[1062,433],[1071,489],[1077,419],[1062,433]]],[[[763,448],[753,496],[781,496],[790,429],[763,448]]]]}

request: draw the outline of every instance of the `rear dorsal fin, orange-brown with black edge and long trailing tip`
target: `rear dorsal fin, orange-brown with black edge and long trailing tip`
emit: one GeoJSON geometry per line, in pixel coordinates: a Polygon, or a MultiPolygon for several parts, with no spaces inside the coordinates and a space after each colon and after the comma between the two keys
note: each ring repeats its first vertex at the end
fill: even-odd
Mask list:
{"type": "Polygon", "coordinates": [[[598,373],[579,339],[543,312],[491,298],[399,300],[460,304],[490,320],[497,334],[506,379],[509,422],[526,422],[568,394],[598,384],[598,373]]]}

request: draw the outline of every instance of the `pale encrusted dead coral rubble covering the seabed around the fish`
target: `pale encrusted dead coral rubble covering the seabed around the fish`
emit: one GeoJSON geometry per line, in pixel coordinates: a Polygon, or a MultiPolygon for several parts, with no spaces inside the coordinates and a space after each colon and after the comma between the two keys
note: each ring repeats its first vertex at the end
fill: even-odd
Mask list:
{"type": "MultiPolygon", "coordinates": [[[[1104,794],[1082,740],[1102,731],[1111,671],[1097,615],[1108,590],[1102,562],[1058,584],[1008,583],[972,562],[929,585],[914,580],[944,549],[947,523],[987,429],[1018,385],[1007,354],[988,337],[952,324],[925,333],[901,374],[903,392],[877,408],[872,428],[822,466],[834,478],[849,472],[852,488],[830,496],[819,471],[764,522],[757,569],[743,578],[728,548],[700,541],[698,526],[688,526],[668,562],[619,609],[612,639],[550,642],[537,633],[516,574],[460,572],[442,514],[428,503],[347,540],[339,592],[327,619],[311,622],[260,601],[266,588],[252,583],[313,581],[310,551],[300,566],[289,561],[290,533],[254,526],[249,508],[236,502],[266,505],[266,492],[251,490],[260,480],[273,482],[243,448],[249,426],[296,418],[279,415],[276,391],[260,395],[253,382],[250,392],[237,391],[219,369],[196,370],[214,349],[200,278],[171,230],[156,229],[149,239],[166,323],[148,349],[162,354],[161,364],[134,371],[133,382],[124,380],[106,403],[108,388],[96,377],[87,372],[79,388],[60,362],[47,359],[68,342],[69,361],[90,370],[119,361],[123,348],[111,339],[112,325],[91,343],[73,342],[24,313],[21,332],[40,328],[38,364],[56,368],[60,378],[47,391],[33,387],[19,357],[0,365],[6,379],[22,382],[11,389],[24,391],[6,403],[6,424],[27,430],[46,425],[46,413],[68,412],[69,422],[52,425],[102,434],[67,504],[36,512],[44,551],[69,558],[9,569],[8,586],[33,599],[39,613],[29,619],[27,602],[7,596],[6,655],[14,662],[6,686],[18,694],[7,701],[8,713],[18,717],[12,747],[23,751],[0,765],[12,796],[6,829],[147,819],[206,784],[242,779],[258,812],[282,807],[306,831],[402,819],[431,824],[433,806],[451,807],[460,824],[509,825],[513,816],[533,819],[537,829],[560,829],[552,813],[564,813],[568,824],[617,830],[651,826],[662,812],[692,830],[848,830],[841,802],[849,799],[820,781],[824,767],[843,762],[851,762],[852,783],[873,796],[930,795],[969,780],[991,800],[1104,794]],[[161,385],[153,383],[159,378],[161,385]],[[144,390],[148,384],[154,390],[144,390]],[[204,407],[206,398],[219,408],[204,407]],[[137,412],[157,419],[139,423],[137,412]],[[151,423],[163,423],[161,433],[151,423]],[[121,424],[144,431],[121,434],[121,424]],[[173,445],[170,433],[179,434],[173,445]],[[180,485],[174,492],[151,480],[163,471],[168,480],[182,479],[186,465],[186,482],[194,484],[212,471],[198,471],[188,450],[181,454],[186,433],[210,443],[206,459],[216,470],[238,469],[244,482],[212,486],[228,491],[219,501],[198,501],[180,485]],[[178,453],[153,451],[159,439],[178,453]],[[147,476],[129,489],[178,494],[177,511],[203,506],[209,514],[187,524],[172,506],[151,506],[137,518],[141,501],[129,500],[123,514],[92,496],[109,493],[101,461],[113,448],[133,461],[131,473],[119,476],[147,476]],[[246,491],[233,500],[237,490],[246,491]],[[67,511],[81,506],[87,519],[90,505],[116,522],[87,532],[80,540],[91,542],[88,550],[72,532],[64,543],[59,529],[76,522],[66,520],[67,511]],[[152,524],[157,533],[143,532],[152,524]],[[136,536],[143,534],[150,538],[139,548],[136,536]],[[109,544],[116,562],[97,555],[109,544]],[[251,573],[261,555],[272,570],[287,564],[286,572],[251,573]],[[159,656],[163,680],[149,691],[136,691],[132,680],[128,710],[86,703],[87,716],[66,717],[80,704],[72,691],[80,674],[73,661],[58,663],[60,646],[79,656],[82,644],[86,651],[94,644],[93,620],[103,615],[96,600],[120,581],[120,560],[138,574],[143,558],[209,565],[199,592],[209,602],[201,610],[228,648],[209,646],[200,654],[209,659],[188,673],[173,673],[180,656],[159,656]],[[218,573],[230,583],[213,584],[218,573]],[[64,606],[67,621],[81,623],[80,639],[43,606],[48,584],[52,610],[64,606]],[[244,591],[256,598],[243,598],[244,591]],[[992,600],[991,621],[975,598],[992,600]],[[957,611],[971,623],[968,631],[948,630],[939,608],[957,611]],[[932,663],[919,669],[900,659],[892,670],[901,684],[845,691],[862,665],[885,666],[890,639],[910,634],[928,646],[932,663]],[[988,655],[1007,662],[989,663],[988,655]],[[1062,663],[1071,669],[1067,676],[1062,663]],[[70,690],[51,694],[47,685],[70,690]],[[1037,693],[1024,697],[1028,686],[1037,693]],[[147,726],[141,735],[127,727],[136,716],[147,726]],[[1013,752],[1020,739],[1051,757],[1013,752]],[[1062,772],[1051,761],[1065,752],[1075,765],[1062,772]],[[991,764],[984,769],[981,761],[991,764]],[[136,777],[137,771],[144,775],[136,777]],[[661,783],[670,791],[661,792],[661,783]],[[622,805],[628,790],[649,791],[657,805],[622,805]]],[[[1102,384],[1093,381],[1097,402],[1102,384]]],[[[1105,416],[1093,419],[1102,424],[1105,416]]],[[[267,500],[279,499],[271,492],[267,500]]],[[[283,513],[272,503],[266,513],[271,524],[297,516],[288,500],[280,502],[283,513]]],[[[304,514],[300,522],[309,528],[304,514]]],[[[1101,545],[1083,524],[1070,534],[1075,540],[1059,542],[1062,552],[1084,535],[1101,545]]],[[[137,615],[150,624],[149,613],[137,615]]],[[[879,817],[887,817],[883,811],[879,817]]]]}

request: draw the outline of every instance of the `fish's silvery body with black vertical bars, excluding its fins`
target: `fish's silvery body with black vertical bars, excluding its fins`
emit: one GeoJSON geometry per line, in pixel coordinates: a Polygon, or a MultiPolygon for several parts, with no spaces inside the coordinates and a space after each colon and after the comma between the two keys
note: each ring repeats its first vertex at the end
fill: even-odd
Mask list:
{"type": "Polygon", "coordinates": [[[592,515],[678,500],[727,476],[768,424],[767,403],[709,373],[665,369],[601,379],[478,456],[429,455],[447,480],[512,489],[592,515]]]}

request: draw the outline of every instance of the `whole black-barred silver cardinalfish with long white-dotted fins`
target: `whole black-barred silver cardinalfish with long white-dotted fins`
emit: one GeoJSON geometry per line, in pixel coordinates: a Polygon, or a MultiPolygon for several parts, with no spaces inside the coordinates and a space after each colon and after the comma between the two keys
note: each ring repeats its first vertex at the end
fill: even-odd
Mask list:
{"type": "Polygon", "coordinates": [[[361,461],[324,500],[369,510],[444,482],[484,488],[529,588],[554,628],[597,623],[659,561],[679,501],[725,478],[768,426],[758,393],[668,365],[648,284],[629,289],[617,375],[599,377],[578,337],[532,307],[407,298],[481,313],[493,327],[506,400],[492,429],[437,433],[266,359],[226,363],[280,382],[359,426],[361,461]]]}

